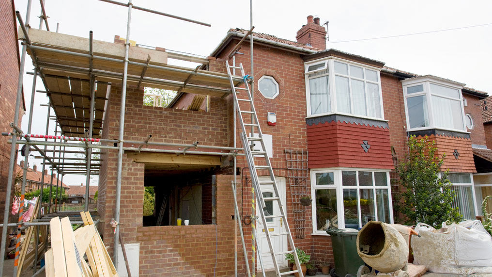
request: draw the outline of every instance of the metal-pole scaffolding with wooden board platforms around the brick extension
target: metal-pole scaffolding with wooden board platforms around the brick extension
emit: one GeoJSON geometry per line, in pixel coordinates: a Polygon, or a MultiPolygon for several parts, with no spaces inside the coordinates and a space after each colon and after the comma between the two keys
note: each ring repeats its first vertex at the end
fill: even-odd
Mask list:
{"type": "MultiPolygon", "coordinates": [[[[232,156],[234,157],[234,167],[236,166],[236,157],[244,156],[239,153],[244,150],[238,147],[222,147],[212,145],[202,145],[199,142],[183,144],[183,143],[161,143],[150,141],[152,135],[143,135],[142,140],[124,140],[124,116],[125,116],[125,99],[126,99],[126,87],[133,85],[140,87],[141,85],[146,87],[154,87],[159,89],[170,89],[180,92],[188,92],[194,94],[224,97],[231,93],[230,81],[227,74],[218,73],[208,70],[189,69],[185,67],[170,66],[167,64],[167,59],[177,59],[194,63],[208,64],[207,59],[198,58],[196,56],[186,55],[182,53],[166,52],[156,49],[140,48],[138,51],[133,51],[136,48],[132,48],[132,54],[130,55],[130,26],[131,26],[131,12],[132,9],[138,9],[145,12],[150,12],[162,16],[172,17],[179,20],[184,20],[200,25],[210,26],[206,23],[199,21],[166,14],[163,12],[139,7],[132,4],[129,0],[128,3],[121,3],[113,0],[101,0],[103,2],[112,3],[116,5],[125,6],[128,8],[127,17],[127,29],[126,39],[124,42],[124,48],[118,48],[118,44],[108,43],[102,41],[96,41],[92,39],[92,31],[89,33],[89,38],[74,37],[70,35],[63,35],[50,32],[48,27],[48,20],[46,11],[44,8],[44,0],[40,0],[41,15],[39,29],[32,29],[30,27],[30,15],[31,15],[31,0],[27,3],[26,21],[23,21],[19,11],[16,11],[16,16],[20,24],[19,39],[22,40],[21,50],[21,63],[19,72],[19,81],[17,87],[17,98],[15,105],[15,116],[13,122],[10,124],[12,127],[11,132],[4,132],[2,136],[9,136],[11,139],[8,141],[11,143],[10,151],[10,164],[8,170],[7,189],[6,189],[6,201],[4,209],[4,219],[2,228],[2,241],[0,248],[0,276],[3,276],[3,257],[5,256],[7,227],[17,227],[17,240],[16,240],[16,260],[14,267],[14,276],[17,276],[17,263],[18,263],[18,247],[20,244],[21,231],[29,226],[48,226],[50,216],[50,210],[58,207],[52,207],[53,202],[51,192],[53,190],[53,177],[54,173],[57,173],[58,177],[63,179],[65,174],[85,174],[86,177],[86,194],[85,194],[85,211],[88,211],[89,204],[89,183],[90,177],[93,174],[99,173],[100,159],[92,159],[93,149],[113,149],[118,150],[118,166],[117,166],[117,183],[116,183],[116,204],[114,209],[114,218],[118,223],[116,225],[114,235],[114,263],[118,263],[118,245],[120,234],[120,194],[122,184],[122,163],[124,151],[135,152],[159,152],[159,153],[173,153],[173,154],[187,154],[187,155],[215,155],[215,156],[232,156]],[[42,25],[45,25],[47,31],[43,31],[42,25]],[[116,46],[115,46],[116,45],[116,46]],[[137,52],[137,55],[134,53],[137,52]],[[27,132],[24,132],[19,126],[19,111],[22,98],[23,77],[26,64],[26,54],[31,56],[34,70],[32,72],[32,90],[31,90],[31,103],[29,112],[29,123],[27,132]],[[37,78],[40,77],[45,91],[36,91],[35,84],[37,78]],[[121,84],[121,107],[120,107],[120,127],[118,139],[102,139],[100,138],[99,131],[102,130],[104,124],[104,113],[108,104],[108,95],[112,84],[121,84]],[[48,96],[49,103],[47,106],[47,118],[46,118],[46,132],[45,134],[31,134],[32,116],[35,92],[45,93],[48,96]],[[55,114],[51,115],[51,109],[55,114]],[[55,135],[49,135],[50,120],[55,120],[55,135]],[[42,172],[44,173],[46,166],[51,167],[51,181],[49,185],[50,196],[48,200],[48,214],[41,216],[41,209],[39,208],[38,219],[33,222],[24,222],[22,220],[23,208],[19,210],[19,220],[17,223],[8,223],[8,214],[10,210],[10,198],[12,189],[12,180],[14,174],[14,167],[16,164],[16,148],[17,145],[27,145],[27,151],[25,155],[24,164],[28,164],[29,151],[37,152],[38,156],[34,156],[36,159],[42,159],[42,172]],[[131,146],[128,146],[131,144],[131,146]],[[138,146],[134,146],[138,145],[138,146]],[[150,148],[152,146],[160,146],[166,148],[179,148],[179,150],[170,149],[157,149],[150,148]],[[31,148],[32,147],[32,148],[31,148]],[[205,149],[205,151],[199,151],[197,148],[205,149]],[[191,149],[191,150],[190,150],[191,149]],[[83,154],[82,158],[68,158],[65,157],[65,153],[71,154],[83,154]],[[58,154],[58,155],[57,155],[58,154]],[[75,162],[73,162],[75,161],[75,162]],[[81,161],[85,163],[77,163],[81,161]]],[[[252,17],[251,17],[252,21],[252,17]]],[[[252,41],[252,34],[250,37],[252,41]]],[[[251,43],[251,66],[252,66],[252,43],[251,43]]],[[[241,77],[234,77],[235,85],[243,82],[241,77]]],[[[235,115],[235,113],[234,113],[235,115]]],[[[235,120],[234,120],[235,121],[235,120]]],[[[236,128],[234,126],[234,132],[236,128]]],[[[236,146],[234,136],[234,146],[236,146]]],[[[26,173],[27,167],[24,169],[21,186],[21,201],[24,201],[26,193],[26,173]]],[[[44,189],[45,180],[44,174],[41,177],[41,195],[44,189]]],[[[62,189],[60,194],[55,192],[55,200],[59,200],[62,197],[62,189]]],[[[236,181],[234,181],[233,189],[236,191],[236,181]]],[[[42,205],[42,197],[39,198],[39,205],[42,205]]],[[[236,207],[237,211],[237,207],[236,207]]],[[[83,222],[77,220],[73,212],[63,213],[58,212],[56,215],[67,215],[73,224],[82,224],[83,222]]],[[[56,216],[55,215],[55,216],[56,216]]],[[[238,218],[236,220],[239,222],[238,218]]],[[[237,228],[237,226],[235,227],[237,228]]],[[[39,229],[35,229],[34,232],[39,232],[39,229]]],[[[38,236],[35,237],[35,258],[34,258],[34,275],[39,274],[41,270],[37,271],[37,257],[38,257],[38,236]],[[36,272],[37,271],[37,272],[36,272]]],[[[237,237],[237,236],[236,236],[237,237]]],[[[46,236],[47,242],[47,236],[46,236]]],[[[45,242],[45,245],[47,243],[45,242]]],[[[254,242],[253,242],[254,243],[254,242]]],[[[243,240],[244,244],[244,240],[243,240]]],[[[44,247],[43,251],[46,251],[47,247],[44,247]]],[[[237,256],[235,258],[236,272],[237,272],[237,256]]],[[[254,264],[253,264],[254,270],[254,264]]]]}

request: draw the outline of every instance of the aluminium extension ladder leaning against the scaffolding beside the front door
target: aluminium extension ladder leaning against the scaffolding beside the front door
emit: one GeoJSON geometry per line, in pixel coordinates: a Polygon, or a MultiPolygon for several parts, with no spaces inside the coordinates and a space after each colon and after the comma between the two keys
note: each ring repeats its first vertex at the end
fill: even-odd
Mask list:
{"type": "MultiPolygon", "coordinates": [[[[229,62],[226,61],[226,67],[227,67],[227,74],[229,75],[229,81],[231,82],[232,95],[234,96],[234,103],[236,105],[238,115],[240,118],[240,122],[241,122],[241,128],[242,128],[241,141],[243,143],[243,147],[244,147],[244,150],[246,152],[246,161],[247,161],[249,171],[251,174],[251,185],[253,186],[253,188],[256,191],[256,193],[255,193],[256,200],[258,202],[258,205],[260,206],[260,208],[258,210],[260,212],[260,217],[263,221],[263,226],[265,227],[264,228],[265,234],[266,234],[268,246],[270,247],[270,254],[272,255],[272,260],[273,260],[273,264],[275,267],[275,272],[276,272],[278,277],[290,275],[293,273],[298,273],[300,277],[303,277],[301,266],[299,264],[299,259],[297,257],[297,253],[296,253],[296,247],[294,245],[294,240],[292,238],[292,234],[290,233],[289,225],[287,223],[287,216],[284,212],[283,204],[281,202],[281,199],[280,199],[280,196],[278,193],[277,183],[275,181],[275,175],[274,175],[274,172],[272,169],[272,164],[270,163],[270,159],[269,159],[268,154],[266,152],[265,142],[263,140],[263,134],[261,132],[259,121],[258,121],[258,116],[257,116],[255,108],[254,108],[254,104],[253,104],[252,97],[251,97],[251,92],[249,90],[249,85],[247,83],[247,75],[245,74],[243,64],[242,63],[239,64],[239,67],[229,66],[229,62]],[[234,85],[234,80],[233,80],[234,75],[232,74],[231,69],[240,69],[241,70],[241,77],[243,77],[243,84],[245,86],[244,88],[236,87],[234,85]],[[237,96],[238,96],[238,94],[241,94],[241,93],[246,93],[247,99],[239,99],[237,96]],[[244,102],[244,103],[246,103],[246,105],[249,105],[250,110],[246,111],[244,109],[241,109],[239,102],[244,102]],[[251,119],[249,120],[250,123],[245,123],[245,117],[246,116],[251,117],[251,119]],[[251,137],[248,137],[247,133],[246,133],[246,126],[253,128],[253,130],[256,129],[254,131],[256,131],[258,133],[258,137],[254,137],[254,132],[251,132],[251,137]],[[263,149],[262,151],[253,150],[252,146],[254,145],[253,144],[254,141],[259,141],[261,143],[261,146],[263,149]],[[261,165],[259,165],[259,164],[261,164],[261,165]],[[260,181],[258,179],[258,172],[257,172],[258,170],[268,170],[269,174],[270,174],[270,180],[269,181],[260,181]],[[263,197],[263,194],[261,192],[262,191],[261,190],[262,185],[273,185],[275,195],[273,195],[273,197],[263,197]],[[278,208],[280,210],[280,215],[265,215],[265,211],[263,210],[263,208],[266,207],[265,201],[276,202],[278,204],[278,208]],[[281,218],[281,220],[285,223],[285,232],[271,235],[270,231],[267,228],[267,226],[268,226],[267,225],[267,219],[269,219],[269,218],[281,218]],[[282,236],[282,235],[287,235],[287,240],[290,244],[291,250],[285,251],[285,252],[275,253],[274,247],[272,244],[272,237],[273,236],[282,236]],[[297,269],[294,271],[288,271],[288,272],[280,273],[280,270],[279,270],[278,264],[277,264],[276,256],[285,255],[287,253],[293,254],[297,269]]],[[[261,253],[260,253],[260,255],[261,255],[261,253]]]]}

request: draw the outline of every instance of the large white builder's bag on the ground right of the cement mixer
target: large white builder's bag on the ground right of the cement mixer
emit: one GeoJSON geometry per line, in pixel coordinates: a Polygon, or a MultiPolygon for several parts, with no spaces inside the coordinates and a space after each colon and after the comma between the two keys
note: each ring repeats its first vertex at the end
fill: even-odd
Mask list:
{"type": "Polygon", "coordinates": [[[478,220],[449,226],[445,232],[419,223],[413,237],[414,264],[425,265],[430,272],[442,274],[492,274],[492,238],[478,220]]]}

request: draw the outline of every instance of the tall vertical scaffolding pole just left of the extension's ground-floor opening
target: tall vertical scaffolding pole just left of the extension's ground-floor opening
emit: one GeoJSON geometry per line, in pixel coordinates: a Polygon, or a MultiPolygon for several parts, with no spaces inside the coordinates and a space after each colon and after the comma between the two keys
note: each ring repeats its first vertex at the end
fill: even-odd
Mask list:
{"type": "Polygon", "coordinates": [[[118,135],[118,168],[116,177],[116,209],[115,220],[117,222],[115,229],[115,241],[114,241],[114,264],[118,268],[118,243],[120,235],[120,202],[121,202],[121,189],[122,189],[122,166],[123,166],[123,131],[124,131],[124,113],[126,104],[126,77],[128,75],[128,50],[130,48],[130,26],[131,26],[131,7],[133,6],[131,0],[128,1],[128,21],[126,23],[126,41],[124,48],[124,67],[123,67],[123,84],[122,84],[122,101],[120,107],[120,130],[118,135]]]}

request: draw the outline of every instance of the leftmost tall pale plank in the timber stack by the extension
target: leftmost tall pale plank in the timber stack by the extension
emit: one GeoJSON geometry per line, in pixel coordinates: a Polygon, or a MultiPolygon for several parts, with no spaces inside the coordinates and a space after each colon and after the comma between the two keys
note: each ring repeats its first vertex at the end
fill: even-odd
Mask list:
{"type": "Polygon", "coordinates": [[[67,277],[66,263],[65,263],[65,249],[63,246],[62,224],[60,218],[54,217],[50,220],[50,233],[51,233],[51,248],[53,249],[53,257],[55,265],[55,276],[67,277]]]}

